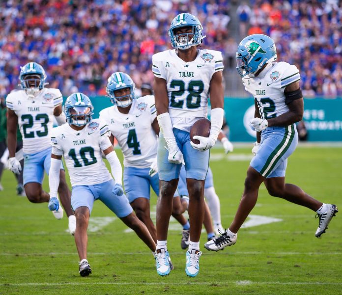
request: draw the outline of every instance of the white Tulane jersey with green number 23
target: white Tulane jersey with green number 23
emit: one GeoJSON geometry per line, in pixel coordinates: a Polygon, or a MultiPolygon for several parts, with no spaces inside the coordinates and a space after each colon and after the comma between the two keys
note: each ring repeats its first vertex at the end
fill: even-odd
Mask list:
{"type": "Polygon", "coordinates": [[[43,88],[34,99],[28,98],[25,90],[7,95],[6,106],[18,116],[25,154],[35,154],[50,147],[54,109],[62,102],[62,94],[56,88],[43,88]]]}

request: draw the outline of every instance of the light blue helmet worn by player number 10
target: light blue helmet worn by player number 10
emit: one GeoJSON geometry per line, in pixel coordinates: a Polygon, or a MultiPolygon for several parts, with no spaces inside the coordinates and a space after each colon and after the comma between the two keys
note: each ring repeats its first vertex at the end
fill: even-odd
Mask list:
{"type": "Polygon", "coordinates": [[[76,92],[71,94],[65,101],[64,113],[66,122],[76,126],[84,126],[91,122],[93,105],[85,94],[76,92]]]}

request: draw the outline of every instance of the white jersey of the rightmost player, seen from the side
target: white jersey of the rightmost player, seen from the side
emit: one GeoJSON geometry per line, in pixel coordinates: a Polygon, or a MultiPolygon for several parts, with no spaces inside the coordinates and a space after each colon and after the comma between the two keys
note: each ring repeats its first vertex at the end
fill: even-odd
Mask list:
{"type": "Polygon", "coordinates": [[[257,101],[261,118],[270,119],[288,112],[285,104],[285,87],[300,80],[295,65],[273,62],[255,78],[242,78],[245,89],[257,101]]]}

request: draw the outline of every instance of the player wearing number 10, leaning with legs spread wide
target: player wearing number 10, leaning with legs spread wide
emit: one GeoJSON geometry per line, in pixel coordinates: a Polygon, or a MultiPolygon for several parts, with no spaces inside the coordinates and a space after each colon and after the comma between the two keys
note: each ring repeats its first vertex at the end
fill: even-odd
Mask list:
{"type": "Polygon", "coordinates": [[[71,205],[76,215],[75,242],[80,257],[81,276],[91,273],[86,259],[87,227],[94,201],[101,200],[153,251],[153,241],[146,226],[133,213],[122,189],[122,168],[109,140],[108,125],[92,120],[93,106],[83,93],[73,93],[65,101],[64,113],[68,124],[52,131],[50,195],[57,196],[58,171],[62,156],[72,185],[71,205]],[[112,175],[102,161],[102,151],[111,165],[112,175]]]}

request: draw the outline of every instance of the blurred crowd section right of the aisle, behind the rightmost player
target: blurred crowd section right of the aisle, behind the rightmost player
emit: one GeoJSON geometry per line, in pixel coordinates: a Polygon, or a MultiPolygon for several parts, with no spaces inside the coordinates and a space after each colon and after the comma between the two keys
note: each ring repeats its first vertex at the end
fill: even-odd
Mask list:
{"type": "Polygon", "coordinates": [[[342,95],[339,0],[252,0],[240,4],[237,13],[241,35],[269,35],[276,43],[278,60],[300,69],[304,97],[342,95]]]}

